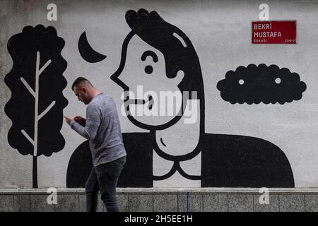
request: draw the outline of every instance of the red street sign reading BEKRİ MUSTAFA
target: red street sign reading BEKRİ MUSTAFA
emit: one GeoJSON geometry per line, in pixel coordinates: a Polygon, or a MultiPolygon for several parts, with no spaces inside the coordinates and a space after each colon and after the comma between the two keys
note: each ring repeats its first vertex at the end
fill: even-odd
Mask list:
{"type": "Polygon", "coordinates": [[[252,22],[252,44],[296,44],[296,20],[252,22]]]}

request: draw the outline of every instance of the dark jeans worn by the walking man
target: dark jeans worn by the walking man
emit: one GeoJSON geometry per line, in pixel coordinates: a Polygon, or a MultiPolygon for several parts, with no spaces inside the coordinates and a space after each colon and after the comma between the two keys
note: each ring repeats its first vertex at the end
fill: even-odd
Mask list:
{"type": "Polygon", "coordinates": [[[116,186],[125,162],[126,156],[93,167],[85,184],[86,212],[96,211],[98,190],[100,190],[107,212],[119,212],[116,200],[116,186]]]}

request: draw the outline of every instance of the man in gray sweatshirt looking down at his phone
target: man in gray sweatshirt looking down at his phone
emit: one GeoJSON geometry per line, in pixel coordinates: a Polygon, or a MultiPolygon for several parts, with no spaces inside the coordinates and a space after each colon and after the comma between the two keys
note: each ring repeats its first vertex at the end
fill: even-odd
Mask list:
{"type": "Polygon", "coordinates": [[[107,212],[118,212],[116,187],[126,162],[126,150],[116,105],[112,97],[100,93],[86,78],[76,78],[71,88],[78,100],[88,105],[86,119],[64,116],[71,129],[90,144],[93,169],[85,186],[86,211],[96,210],[99,189],[107,212]]]}

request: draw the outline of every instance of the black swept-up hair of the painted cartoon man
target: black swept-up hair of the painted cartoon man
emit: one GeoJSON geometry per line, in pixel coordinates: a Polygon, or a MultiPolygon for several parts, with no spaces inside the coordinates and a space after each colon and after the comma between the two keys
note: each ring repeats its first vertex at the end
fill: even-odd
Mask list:
{"type": "Polygon", "coordinates": [[[165,22],[157,12],[148,13],[143,8],[137,13],[127,11],[126,22],[141,40],[163,53],[168,78],[174,78],[179,70],[184,71],[184,79],[179,84],[181,91],[204,89],[199,58],[182,30],[165,22]]]}

